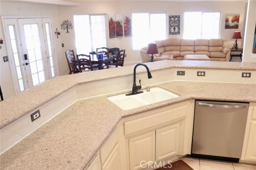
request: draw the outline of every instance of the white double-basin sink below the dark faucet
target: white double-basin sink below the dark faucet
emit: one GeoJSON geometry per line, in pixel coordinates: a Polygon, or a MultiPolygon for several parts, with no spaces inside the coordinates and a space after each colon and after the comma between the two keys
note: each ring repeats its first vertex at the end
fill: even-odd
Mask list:
{"type": "Polygon", "coordinates": [[[151,88],[150,92],[143,90],[143,93],[125,96],[120,94],[117,96],[108,97],[108,100],[116,104],[123,110],[134,109],[140,106],[146,106],[148,104],[154,104],[156,102],[162,102],[172,98],[179,97],[177,94],[169,92],[159,87],[151,88]]]}

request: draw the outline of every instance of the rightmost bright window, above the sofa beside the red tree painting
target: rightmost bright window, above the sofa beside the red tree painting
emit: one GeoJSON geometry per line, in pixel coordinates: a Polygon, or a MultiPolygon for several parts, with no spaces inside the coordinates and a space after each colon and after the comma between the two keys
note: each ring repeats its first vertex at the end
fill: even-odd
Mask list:
{"type": "Polygon", "coordinates": [[[183,38],[220,38],[220,12],[185,12],[183,38]]]}

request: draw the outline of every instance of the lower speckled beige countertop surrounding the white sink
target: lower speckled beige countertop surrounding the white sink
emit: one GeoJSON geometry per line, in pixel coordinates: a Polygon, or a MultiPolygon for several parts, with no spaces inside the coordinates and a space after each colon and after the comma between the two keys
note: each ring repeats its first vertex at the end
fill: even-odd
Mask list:
{"type": "Polygon", "coordinates": [[[110,102],[110,95],[75,102],[1,154],[0,169],[83,170],[122,117],[189,99],[256,102],[256,84],[172,81],[159,87],[180,97],[128,111],[110,102]]]}

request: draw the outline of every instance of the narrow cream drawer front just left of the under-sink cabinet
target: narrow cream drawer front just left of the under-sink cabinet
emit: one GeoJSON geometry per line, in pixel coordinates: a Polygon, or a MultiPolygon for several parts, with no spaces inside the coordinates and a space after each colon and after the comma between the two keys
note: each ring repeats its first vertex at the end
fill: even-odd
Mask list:
{"type": "Polygon", "coordinates": [[[100,149],[101,162],[104,164],[116,144],[118,143],[118,128],[108,137],[102,148],[100,149]]]}

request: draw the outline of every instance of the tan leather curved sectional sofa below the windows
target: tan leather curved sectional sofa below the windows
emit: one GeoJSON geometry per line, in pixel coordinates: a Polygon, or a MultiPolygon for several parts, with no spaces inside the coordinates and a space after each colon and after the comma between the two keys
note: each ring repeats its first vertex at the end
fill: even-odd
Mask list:
{"type": "MultiPolygon", "coordinates": [[[[183,60],[184,55],[207,55],[211,61],[229,61],[230,49],[223,39],[165,39],[153,41],[158,48],[154,60],[183,60]]],[[[147,47],[140,50],[142,62],[150,60],[151,55],[146,54],[147,47]]]]}

